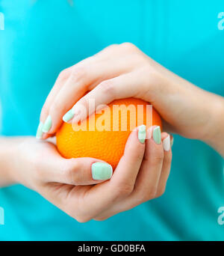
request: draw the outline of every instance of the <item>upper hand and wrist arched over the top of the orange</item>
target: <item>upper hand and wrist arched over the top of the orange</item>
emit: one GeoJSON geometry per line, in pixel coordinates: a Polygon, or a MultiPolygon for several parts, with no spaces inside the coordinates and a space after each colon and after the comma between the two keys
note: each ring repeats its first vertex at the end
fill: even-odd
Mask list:
{"type": "Polygon", "coordinates": [[[222,132],[219,122],[222,120],[224,124],[223,97],[181,79],[131,43],[122,43],[109,46],[60,73],[41,112],[43,123],[51,117],[43,138],[57,131],[69,109],[72,108],[64,120],[73,118],[73,122],[78,122],[86,118],[79,109],[84,107],[88,112],[90,99],[95,100],[97,107],[125,97],[152,103],[169,132],[211,144],[222,132]]]}

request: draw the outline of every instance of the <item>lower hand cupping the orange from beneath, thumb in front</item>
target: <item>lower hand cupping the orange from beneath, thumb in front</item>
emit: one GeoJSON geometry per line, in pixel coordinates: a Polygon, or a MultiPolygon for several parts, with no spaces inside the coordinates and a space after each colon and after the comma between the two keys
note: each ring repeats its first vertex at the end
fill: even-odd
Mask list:
{"type": "Polygon", "coordinates": [[[161,140],[166,141],[157,144],[151,128],[147,131],[149,139],[141,143],[137,132],[131,132],[111,180],[93,180],[91,165],[102,161],[63,159],[54,144],[33,138],[19,143],[10,154],[11,176],[78,222],[108,219],[164,193],[172,159],[169,135],[163,132],[161,140]]]}

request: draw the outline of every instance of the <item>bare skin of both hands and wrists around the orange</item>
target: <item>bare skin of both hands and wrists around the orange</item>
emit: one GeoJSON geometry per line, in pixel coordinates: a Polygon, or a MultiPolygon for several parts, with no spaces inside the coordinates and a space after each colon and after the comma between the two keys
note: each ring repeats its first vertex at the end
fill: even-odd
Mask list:
{"type": "MultiPolygon", "coordinates": [[[[160,112],[164,129],[205,141],[224,156],[223,97],[181,79],[131,43],[109,46],[60,73],[41,112],[42,122],[52,117],[43,139],[55,135],[72,107],[88,109],[88,99],[99,106],[125,97],[149,101],[160,112]]],[[[75,115],[72,122],[83,118],[75,115]]],[[[0,138],[0,186],[28,186],[79,222],[108,219],[164,193],[172,152],[147,132],[149,139],[142,144],[134,130],[111,180],[97,182],[90,169],[99,159],[63,159],[49,141],[0,138]]],[[[163,141],[168,134],[161,136],[163,141]]]]}

